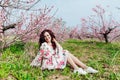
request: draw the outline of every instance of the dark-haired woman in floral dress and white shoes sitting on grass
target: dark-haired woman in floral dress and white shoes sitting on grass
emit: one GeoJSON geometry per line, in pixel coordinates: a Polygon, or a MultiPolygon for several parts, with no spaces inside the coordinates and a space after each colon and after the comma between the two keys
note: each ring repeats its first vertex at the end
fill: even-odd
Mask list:
{"type": "Polygon", "coordinates": [[[63,50],[51,30],[45,29],[41,32],[39,45],[39,53],[30,64],[31,66],[41,66],[42,70],[64,69],[66,64],[69,63],[73,67],[74,73],[85,75],[87,73],[98,72],[92,67],[88,67],[83,64],[69,51],[63,50]]]}

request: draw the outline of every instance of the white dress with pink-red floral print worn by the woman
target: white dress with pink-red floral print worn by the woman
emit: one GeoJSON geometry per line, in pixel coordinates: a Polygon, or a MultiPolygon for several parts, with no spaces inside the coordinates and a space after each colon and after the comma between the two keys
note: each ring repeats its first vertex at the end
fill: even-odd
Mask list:
{"type": "Polygon", "coordinates": [[[31,66],[41,66],[41,69],[63,69],[67,63],[67,51],[57,46],[54,50],[46,42],[42,43],[40,50],[31,66]]]}

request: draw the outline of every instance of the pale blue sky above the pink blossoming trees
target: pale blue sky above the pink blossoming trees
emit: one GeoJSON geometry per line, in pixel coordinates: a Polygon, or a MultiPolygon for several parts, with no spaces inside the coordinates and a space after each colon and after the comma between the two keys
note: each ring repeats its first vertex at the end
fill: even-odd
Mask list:
{"type": "Polygon", "coordinates": [[[67,26],[76,26],[80,24],[81,18],[87,18],[93,14],[92,8],[100,5],[111,13],[114,18],[120,13],[120,0],[41,0],[37,6],[54,6],[53,12],[56,18],[62,18],[67,26]]]}

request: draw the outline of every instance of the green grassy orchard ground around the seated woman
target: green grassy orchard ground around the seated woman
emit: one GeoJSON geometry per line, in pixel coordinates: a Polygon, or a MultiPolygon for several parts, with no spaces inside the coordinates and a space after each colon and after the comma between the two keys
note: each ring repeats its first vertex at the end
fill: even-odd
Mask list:
{"type": "Polygon", "coordinates": [[[97,74],[77,75],[70,65],[63,70],[31,67],[38,51],[37,43],[16,43],[0,56],[0,80],[120,80],[120,44],[70,39],[61,43],[86,65],[97,69],[97,74]]]}

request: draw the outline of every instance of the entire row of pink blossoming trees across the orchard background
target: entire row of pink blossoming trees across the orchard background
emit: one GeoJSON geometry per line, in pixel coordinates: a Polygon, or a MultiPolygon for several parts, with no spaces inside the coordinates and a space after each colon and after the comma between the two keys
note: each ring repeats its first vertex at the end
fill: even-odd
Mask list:
{"type": "Polygon", "coordinates": [[[39,34],[45,28],[53,30],[59,41],[68,38],[98,38],[112,41],[119,34],[119,22],[105,19],[105,10],[101,6],[93,8],[95,15],[81,19],[81,26],[70,28],[60,18],[51,14],[54,6],[36,8],[40,0],[0,0],[0,49],[16,41],[38,41],[39,34]]]}

